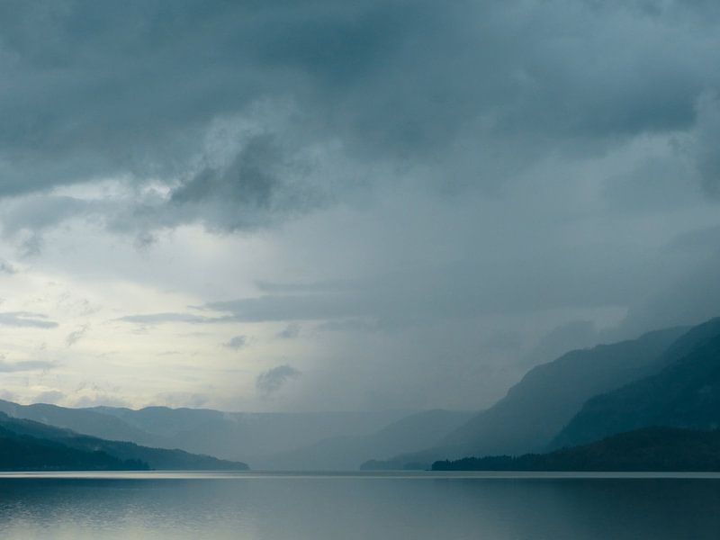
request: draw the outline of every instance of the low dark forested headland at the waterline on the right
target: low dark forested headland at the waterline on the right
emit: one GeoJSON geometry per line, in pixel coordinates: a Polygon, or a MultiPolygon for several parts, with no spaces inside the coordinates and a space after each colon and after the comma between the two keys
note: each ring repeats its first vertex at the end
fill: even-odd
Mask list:
{"type": "Polygon", "coordinates": [[[720,471],[720,430],[643,428],[549,454],[466,457],[433,471],[720,471]]]}

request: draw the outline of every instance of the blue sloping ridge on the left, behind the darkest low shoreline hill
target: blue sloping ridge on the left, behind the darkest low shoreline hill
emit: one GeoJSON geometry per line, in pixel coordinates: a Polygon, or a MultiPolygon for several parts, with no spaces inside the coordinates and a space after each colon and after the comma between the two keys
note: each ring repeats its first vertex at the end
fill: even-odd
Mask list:
{"type": "MultiPolygon", "coordinates": [[[[28,444],[31,442],[32,447],[37,449],[38,455],[50,455],[52,452],[67,455],[67,459],[80,460],[75,466],[86,463],[91,468],[101,468],[100,464],[107,464],[106,468],[111,469],[122,468],[122,464],[126,464],[125,469],[135,465],[135,468],[149,467],[160,470],[247,470],[247,464],[219,460],[209,455],[193,455],[182,450],[148,448],[134,443],[88,437],[32,420],[13,419],[4,413],[0,413],[0,429],[5,435],[13,434],[12,437],[6,438],[14,442],[5,441],[7,448],[11,450],[16,446],[17,441],[25,441],[28,444]],[[40,453],[42,448],[45,449],[43,450],[45,454],[40,453]],[[97,464],[88,457],[90,455],[94,455],[99,460],[97,464]]],[[[46,464],[46,468],[53,463],[55,462],[46,464]]]]}

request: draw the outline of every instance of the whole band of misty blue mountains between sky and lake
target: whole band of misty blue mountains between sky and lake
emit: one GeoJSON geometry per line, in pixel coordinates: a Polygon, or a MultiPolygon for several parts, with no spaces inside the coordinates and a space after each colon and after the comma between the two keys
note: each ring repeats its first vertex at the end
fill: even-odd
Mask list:
{"type": "Polygon", "coordinates": [[[720,319],[713,319],[570,351],[532,368],[477,413],[69,409],[0,401],[0,466],[720,472],[718,426],[720,319]]]}

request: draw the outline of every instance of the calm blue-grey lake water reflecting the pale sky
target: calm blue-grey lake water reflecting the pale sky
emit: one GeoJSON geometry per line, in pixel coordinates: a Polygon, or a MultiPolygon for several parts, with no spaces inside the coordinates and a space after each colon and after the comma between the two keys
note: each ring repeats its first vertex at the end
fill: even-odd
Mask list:
{"type": "Polygon", "coordinates": [[[720,475],[0,474],[0,538],[720,537],[720,475]]]}

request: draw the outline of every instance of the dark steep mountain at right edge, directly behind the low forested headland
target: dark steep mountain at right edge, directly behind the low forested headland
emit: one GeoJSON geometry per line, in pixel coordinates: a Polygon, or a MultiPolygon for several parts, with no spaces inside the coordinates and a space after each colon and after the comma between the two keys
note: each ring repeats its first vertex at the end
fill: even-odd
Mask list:
{"type": "Polygon", "coordinates": [[[554,439],[575,446],[649,426],[720,426],[720,319],[692,329],[659,374],[594,397],[554,439]]]}

